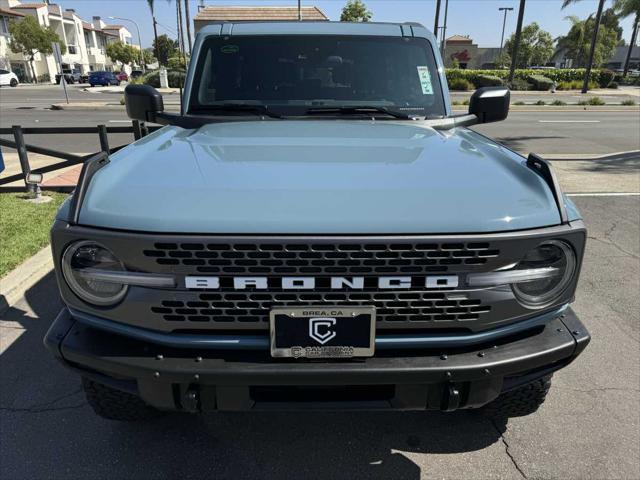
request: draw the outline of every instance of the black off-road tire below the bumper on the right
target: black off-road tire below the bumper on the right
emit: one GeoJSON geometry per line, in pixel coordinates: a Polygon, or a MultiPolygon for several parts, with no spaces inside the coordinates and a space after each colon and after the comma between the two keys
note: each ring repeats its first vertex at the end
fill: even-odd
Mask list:
{"type": "Polygon", "coordinates": [[[489,418],[531,415],[544,403],[550,388],[551,377],[541,378],[501,394],[498,398],[482,407],[481,412],[489,418]]]}

